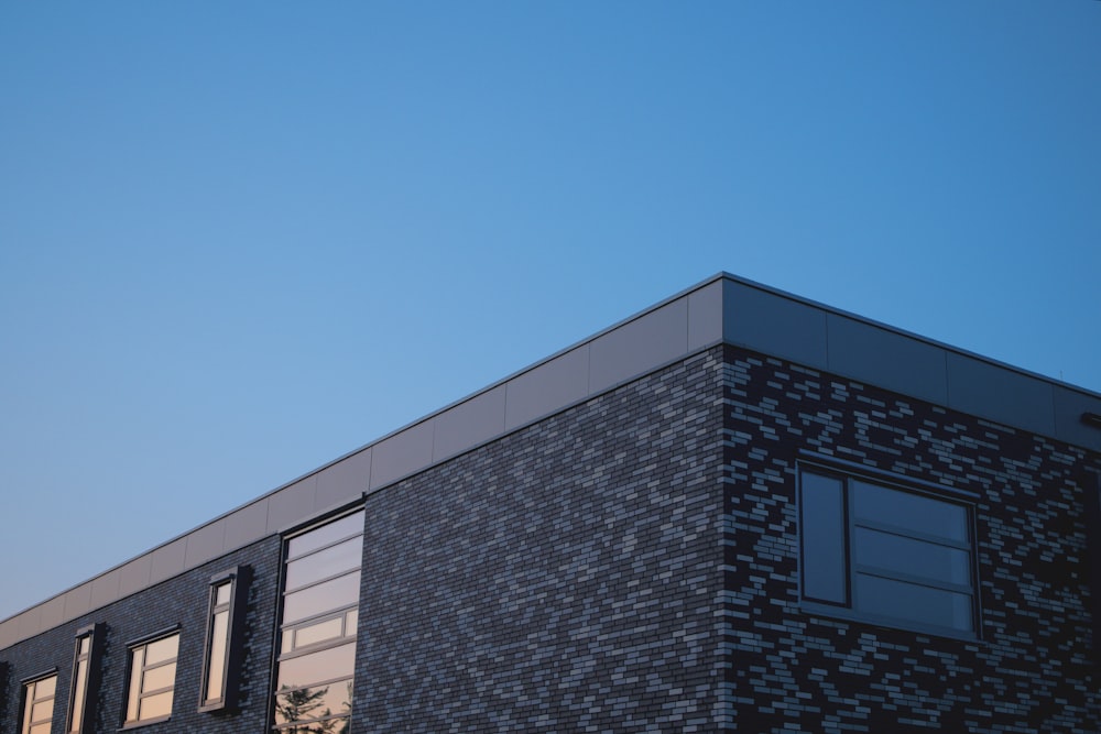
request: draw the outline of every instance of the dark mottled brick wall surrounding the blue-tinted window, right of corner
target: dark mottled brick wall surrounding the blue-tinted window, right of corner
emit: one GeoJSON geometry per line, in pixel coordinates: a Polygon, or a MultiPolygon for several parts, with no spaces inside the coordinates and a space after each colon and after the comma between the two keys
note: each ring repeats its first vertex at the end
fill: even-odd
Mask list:
{"type": "Polygon", "coordinates": [[[728,728],[1101,731],[1082,494],[1095,454],[733,348],[724,361],[728,728]],[[800,611],[800,449],[979,494],[980,639],[800,611]]]}

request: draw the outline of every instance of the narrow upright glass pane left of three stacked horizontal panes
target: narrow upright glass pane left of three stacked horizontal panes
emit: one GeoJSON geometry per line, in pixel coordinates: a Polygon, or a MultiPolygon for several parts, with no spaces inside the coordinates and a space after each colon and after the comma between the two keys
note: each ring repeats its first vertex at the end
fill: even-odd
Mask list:
{"type": "Polygon", "coordinates": [[[843,604],[844,502],[841,480],[803,474],[803,595],[843,604]]]}

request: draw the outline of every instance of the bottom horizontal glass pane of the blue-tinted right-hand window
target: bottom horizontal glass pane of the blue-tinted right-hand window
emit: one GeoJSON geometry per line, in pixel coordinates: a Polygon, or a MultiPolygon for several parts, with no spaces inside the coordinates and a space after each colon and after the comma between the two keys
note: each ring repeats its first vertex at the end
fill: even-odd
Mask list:
{"type": "Polygon", "coordinates": [[[970,632],[971,598],[874,576],[857,576],[857,609],[938,627],[970,632]]]}

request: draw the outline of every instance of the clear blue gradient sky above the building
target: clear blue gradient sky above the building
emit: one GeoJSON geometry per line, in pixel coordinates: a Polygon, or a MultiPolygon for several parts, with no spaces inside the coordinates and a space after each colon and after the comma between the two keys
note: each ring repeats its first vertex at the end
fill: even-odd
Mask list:
{"type": "Polygon", "coordinates": [[[1101,391],[1101,2],[0,2],[0,618],[724,270],[1101,391]]]}

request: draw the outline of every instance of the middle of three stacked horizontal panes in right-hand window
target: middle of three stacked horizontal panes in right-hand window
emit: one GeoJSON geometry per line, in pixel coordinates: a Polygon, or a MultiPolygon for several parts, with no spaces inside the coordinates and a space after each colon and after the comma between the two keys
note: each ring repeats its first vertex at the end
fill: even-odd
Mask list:
{"type": "Polygon", "coordinates": [[[857,562],[946,583],[971,583],[970,554],[914,538],[858,527],[857,562]]]}

